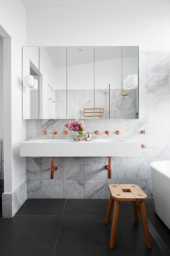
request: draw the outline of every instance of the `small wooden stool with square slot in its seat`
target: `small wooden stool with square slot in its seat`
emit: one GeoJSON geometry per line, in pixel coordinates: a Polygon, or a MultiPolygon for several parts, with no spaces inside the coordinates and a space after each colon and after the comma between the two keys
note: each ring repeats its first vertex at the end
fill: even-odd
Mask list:
{"type": "Polygon", "coordinates": [[[137,212],[137,201],[139,201],[139,207],[140,207],[140,212],[141,212],[142,222],[143,222],[143,229],[145,233],[146,246],[147,248],[151,249],[152,243],[150,239],[150,233],[149,233],[145,205],[144,205],[144,201],[147,199],[147,195],[143,192],[143,190],[138,185],[135,185],[135,184],[111,184],[109,185],[109,191],[110,191],[110,200],[107,208],[105,224],[109,224],[113,201],[115,199],[109,247],[111,249],[115,248],[115,238],[116,238],[116,229],[117,229],[117,223],[118,223],[120,201],[132,201],[133,209],[134,209],[135,224],[139,224],[138,212],[137,212]]]}

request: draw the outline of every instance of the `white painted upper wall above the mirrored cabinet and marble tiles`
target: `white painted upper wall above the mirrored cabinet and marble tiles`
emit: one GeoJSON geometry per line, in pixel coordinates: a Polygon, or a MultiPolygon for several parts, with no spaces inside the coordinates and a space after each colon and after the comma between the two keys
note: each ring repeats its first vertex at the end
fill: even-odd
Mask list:
{"type": "Polygon", "coordinates": [[[138,45],[170,51],[169,0],[91,0],[27,11],[27,45],[138,45]]]}

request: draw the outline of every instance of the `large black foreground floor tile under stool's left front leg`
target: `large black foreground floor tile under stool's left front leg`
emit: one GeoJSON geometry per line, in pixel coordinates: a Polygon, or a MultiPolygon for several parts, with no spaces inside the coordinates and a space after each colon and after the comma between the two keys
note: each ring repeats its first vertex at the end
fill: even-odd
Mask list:
{"type": "Polygon", "coordinates": [[[115,249],[109,248],[111,224],[102,216],[63,216],[55,256],[126,256],[119,233],[115,249]]]}

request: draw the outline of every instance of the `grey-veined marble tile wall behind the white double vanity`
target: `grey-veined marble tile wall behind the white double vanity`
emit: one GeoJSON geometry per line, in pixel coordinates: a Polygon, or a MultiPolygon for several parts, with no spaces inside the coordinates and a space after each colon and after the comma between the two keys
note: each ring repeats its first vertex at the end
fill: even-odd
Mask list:
{"type": "MultiPolygon", "coordinates": [[[[140,52],[139,119],[85,119],[86,130],[92,138],[105,138],[109,130],[111,138],[131,138],[145,144],[140,157],[112,157],[112,179],[107,179],[107,157],[55,158],[58,166],[55,178],[49,179],[49,158],[27,158],[28,198],[107,198],[110,183],[135,183],[153,196],[150,162],[170,159],[170,53],[140,52]],[[147,133],[141,134],[145,129],[147,133]],[[99,135],[94,131],[99,130],[99,135]]],[[[27,120],[27,140],[41,138],[42,130],[54,139],[74,138],[66,130],[67,120],[27,120]]]]}

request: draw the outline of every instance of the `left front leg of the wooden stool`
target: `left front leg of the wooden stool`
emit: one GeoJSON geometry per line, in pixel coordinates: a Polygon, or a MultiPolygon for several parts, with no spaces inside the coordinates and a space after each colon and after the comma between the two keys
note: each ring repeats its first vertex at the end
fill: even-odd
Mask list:
{"type": "Polygon", "coordinates": [[[110,234],[110,244],[109,244],[109,247],[111,249],[115,248],[115,238],[116,238],[116,230],[117,230],[117,223],[118,223],[119,205],[120,205],[120,201],[115,200],[114,211],[113,211],[113,220],[112,220],[112,229],[111,229],[111,234],[110,234]]]}

